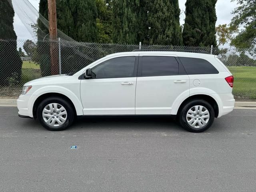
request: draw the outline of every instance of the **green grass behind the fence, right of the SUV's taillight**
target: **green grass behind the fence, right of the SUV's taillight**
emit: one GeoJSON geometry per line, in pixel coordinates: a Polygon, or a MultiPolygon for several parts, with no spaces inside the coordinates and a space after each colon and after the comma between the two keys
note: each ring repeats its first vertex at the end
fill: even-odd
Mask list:
{"type": "Polygon", "coordinates": [[[229,66],[228,69],[234,76],[233,94],[256,99],[256,67],[229,66]]]}

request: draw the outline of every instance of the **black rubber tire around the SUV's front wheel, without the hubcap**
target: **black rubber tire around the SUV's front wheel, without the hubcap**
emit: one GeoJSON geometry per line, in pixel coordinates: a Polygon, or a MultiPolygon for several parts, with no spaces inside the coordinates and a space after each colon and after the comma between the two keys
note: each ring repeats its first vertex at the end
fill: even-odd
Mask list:
{"type": "Polygon", "coordinates": [[[40,123],[42,124],[42,126],[44,126],[44,128],[50,130],[50,131],[62,131],[62,130],[65,130],[66,128],[68,128],[68,126],[70,126],[73,121],[74,121],[74,116],[75,116],[75,113],[74,113],[74,110],[72,108],[72,106],[70,105],[70,103],[66,100],[64,100],[63,98],[60,98],[60,97],[49,97],[49,98],[46,98],[45,100],[43,100],[38,108],[37,108],[37,117],[38,117],[38,120],[40,121],[40,123]],[[58,127],[54,127],[54,126],[50,126],[48,125],[43,117],[42,117],[42,112],[44,110],[44,107],[50,103],[58,103],[60,105],[62,105],[65,109],[66,109],[66,112],[67,112],[67,118],[66,118],[66,121],[64,122],[64,124],[58,126],[58,127]]]}

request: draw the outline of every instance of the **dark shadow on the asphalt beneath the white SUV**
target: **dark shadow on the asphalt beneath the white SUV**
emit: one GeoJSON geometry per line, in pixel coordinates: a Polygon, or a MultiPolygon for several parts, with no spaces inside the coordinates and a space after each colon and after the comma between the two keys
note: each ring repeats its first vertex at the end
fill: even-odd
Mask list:
{"type": "MultiPolygon", "coordinates": [[[[225,117],[215,119],[209,130],[206,130],[204,133],[220,133],[223,131],[228,131],[226,124],[223,124],[225,117]]],[[[17,127],[26,128],[26,130],[36,130],[36,131],[46,131],[46,129],[40,124],[38,119],[25,119],[22,118],[22,121],[18,121],[17,127]]],[[[74,121],[74,123],[66,130],[68,132],[74,131],[90,131],[90,130],[155,130],[162,132],[180,132],[180,133],[191,133],[182,128],[177,120],[170,117],[82,117],[74,121]]],[[[62,132],[62,131],[60,131],[62,132]]]]}

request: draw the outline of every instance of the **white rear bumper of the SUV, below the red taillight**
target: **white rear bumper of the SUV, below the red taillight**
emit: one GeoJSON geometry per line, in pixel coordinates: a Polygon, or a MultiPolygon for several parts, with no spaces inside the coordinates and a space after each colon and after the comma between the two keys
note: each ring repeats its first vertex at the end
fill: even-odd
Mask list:
{"type": "Polygon", "coordinates": [[[210,96],[212,96],[218,104],[218,118],[232,112],[234,109],[235,99],[232,93],[210,94],[210,96]]]}

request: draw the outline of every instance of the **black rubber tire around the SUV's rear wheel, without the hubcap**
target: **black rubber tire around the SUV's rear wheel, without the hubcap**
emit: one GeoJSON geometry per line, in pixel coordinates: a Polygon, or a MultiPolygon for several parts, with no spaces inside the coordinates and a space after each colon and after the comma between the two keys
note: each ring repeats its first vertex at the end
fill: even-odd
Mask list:
{"type": "Polygon", "coordinates": [[[205,100],[201,100],[201,99],[192,100],[182,106],[178,118],[179,118],[179,122],[180,122],[181,126],[184,129],[186,129],[190,132],[194,132],[194,133],[204,132],[205,130],[210,128],[210,126],[212,125],[212,123],[214,121],[214,109],[211,106],[211,104],[209,104],[205,100]],[[209,120],[206,123],[206,125],[201,128],[194,128],[194,127],[190,126],[190,124],[186,120],[186,115],[187,115],[188,110],[196,105],[204,106],[208,110],[209,115],[210,115],[209,120]]]}

